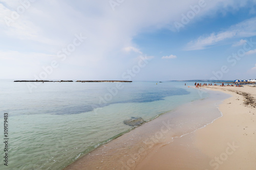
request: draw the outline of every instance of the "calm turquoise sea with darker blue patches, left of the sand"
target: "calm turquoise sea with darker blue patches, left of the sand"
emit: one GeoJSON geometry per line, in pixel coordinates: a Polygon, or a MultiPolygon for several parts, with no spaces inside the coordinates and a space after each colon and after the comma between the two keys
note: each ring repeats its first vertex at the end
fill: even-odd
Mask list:
{"type": "Polygon", "coordinates": [[[27,83],[0,81],[3,140],[4,113],[9,114],[8,167],[1,163],[0,169],[62,169],[130,131],[125,119],[150,120],[206,98],[207,93],[187,86],[184,82],[46,82],[30,91],[27,83]]]}

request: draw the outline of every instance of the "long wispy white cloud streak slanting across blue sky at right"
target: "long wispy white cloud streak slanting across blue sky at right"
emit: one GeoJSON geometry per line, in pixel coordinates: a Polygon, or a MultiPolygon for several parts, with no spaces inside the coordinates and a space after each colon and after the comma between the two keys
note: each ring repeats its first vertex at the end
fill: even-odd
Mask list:
{"type": "MultiPolygon", "coordinates": [[[[234,37],[251,37],[256,35],[256,17],[245,20],[237,25],[231,26],[224,32],[211,33],[210,35],[200,36],[197,40],[190,41],[185,50],[203,50],[217,44],[217,42],[234,37]]],[[[244,43],[241,40],[240,43],[244,43]]]]}

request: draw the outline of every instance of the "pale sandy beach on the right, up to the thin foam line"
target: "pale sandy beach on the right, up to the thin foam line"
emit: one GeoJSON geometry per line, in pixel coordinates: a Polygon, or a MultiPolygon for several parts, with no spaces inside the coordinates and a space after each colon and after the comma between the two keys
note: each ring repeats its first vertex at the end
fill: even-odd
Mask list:
{"type": "Polygon", "coordinates": [[[151,153],[136,169],[255,169],[256,87],[204,88],[232,95],[219,107],[223,116],[151,153]]]}

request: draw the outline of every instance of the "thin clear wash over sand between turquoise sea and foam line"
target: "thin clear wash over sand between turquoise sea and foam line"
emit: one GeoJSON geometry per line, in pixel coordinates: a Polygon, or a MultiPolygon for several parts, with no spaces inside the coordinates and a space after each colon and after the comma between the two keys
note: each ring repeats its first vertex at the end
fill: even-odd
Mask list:
{"type": "Polygon", "coordinates": [[[211,98],[193,101],[185,104],[186,107],[181,106],[169,114],[160,115],[157,119],[101,145],[65,169],[137,169],[137,165],[157,149],[194,133],[220,117],[220,112],[215,106],[215,109],[212,108],[214,113],[217,113],[212,114],[214,117],[209,116],[207,120],[201,119],[204,110],[213,106],[212,102],[216,101],[212,101],[211,98]],[[205,107],[198,107],[202,104],[205,107]],[[189,112],[187,108],[194,108],[195,112],[200,114],[197,115],[198,117],[192,114],[187,115],[189,112]],[[189,120],[193,120],[193,123],[189,123],[189,120]]]}

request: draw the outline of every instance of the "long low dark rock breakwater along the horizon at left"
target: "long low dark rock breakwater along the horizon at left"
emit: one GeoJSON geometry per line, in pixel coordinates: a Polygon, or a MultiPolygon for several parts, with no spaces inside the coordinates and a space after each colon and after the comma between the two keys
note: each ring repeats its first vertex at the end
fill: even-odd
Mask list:
{"type": "MultiPolygon", "coordinates": [[[[73,80],[60,80],[60,81],[49,81],[49,80],[15,80],[14,82],[74,82],[73,80]]],[[[122,81],[122,80],[77,80],[76,82],[124,82],[131,83],[133,81],[122,81]]]]}

